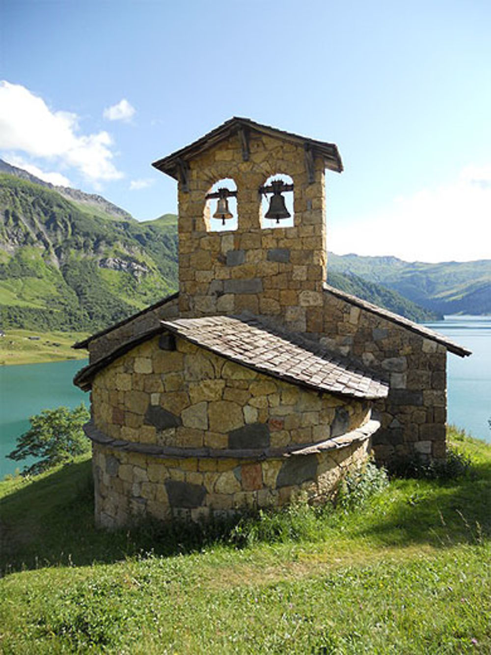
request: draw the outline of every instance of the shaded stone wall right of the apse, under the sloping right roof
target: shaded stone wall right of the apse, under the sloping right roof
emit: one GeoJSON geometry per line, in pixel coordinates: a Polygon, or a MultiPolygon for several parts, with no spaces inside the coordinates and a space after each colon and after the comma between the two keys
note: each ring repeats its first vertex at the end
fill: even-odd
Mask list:
{"type": "Polygon", "coordinates": [[[355,358],[390,383],[375,403],[380,462],[421,455],[445,458],[446,348],[409,329],[324,292],[321,343],[355,358]]]}

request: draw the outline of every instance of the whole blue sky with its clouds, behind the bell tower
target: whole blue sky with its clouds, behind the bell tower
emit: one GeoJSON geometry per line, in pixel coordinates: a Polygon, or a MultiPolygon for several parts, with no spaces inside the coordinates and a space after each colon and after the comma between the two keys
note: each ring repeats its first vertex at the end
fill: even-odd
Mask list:
{"type": "Polygon", "coordinates": [[[491,257],[491,3],[3,0],[0,157],[138,219],[233,115],[335,142],[328,248],[491,257]],[[60,177],[62,176],[62,177],[60,177]]]}

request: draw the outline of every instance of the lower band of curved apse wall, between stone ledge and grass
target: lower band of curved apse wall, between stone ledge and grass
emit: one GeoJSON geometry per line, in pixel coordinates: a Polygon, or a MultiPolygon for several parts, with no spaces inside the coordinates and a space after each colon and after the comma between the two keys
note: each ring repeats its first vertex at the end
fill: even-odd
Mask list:
{"type": "Polygon", "coordinates": [[[304,493],[325,502],[348,470],[359,466],[370,440],[326,452],[267,460],[164,458],[93,444],[96,523],[114,528],[134,519],[221,517],[244,508],[281,507],[304,493]]]}

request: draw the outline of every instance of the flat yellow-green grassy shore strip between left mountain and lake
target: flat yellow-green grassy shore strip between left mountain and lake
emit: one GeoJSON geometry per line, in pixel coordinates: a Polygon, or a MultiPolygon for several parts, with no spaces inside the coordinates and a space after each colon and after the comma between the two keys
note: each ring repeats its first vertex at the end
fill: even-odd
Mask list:
{"type": "Polygon", "coordinates": [[[0,366],[83,360],[86,351],[71,346],[86,337],[87,332],[6,329],[0,337],[0,366]]]}

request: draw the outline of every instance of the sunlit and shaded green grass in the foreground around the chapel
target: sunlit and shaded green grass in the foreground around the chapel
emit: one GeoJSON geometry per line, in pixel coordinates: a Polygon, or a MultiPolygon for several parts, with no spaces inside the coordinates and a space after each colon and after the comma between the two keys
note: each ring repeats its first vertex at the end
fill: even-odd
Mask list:
{"type": "Polygon", "coordinates": [[[230,525],[96,531],[87,460],[0,483],[0,650],[487,654],[491,446],[450,436],[465,477],[299,505],[282,536],[263,514],[242,547],[230,525]]]}

